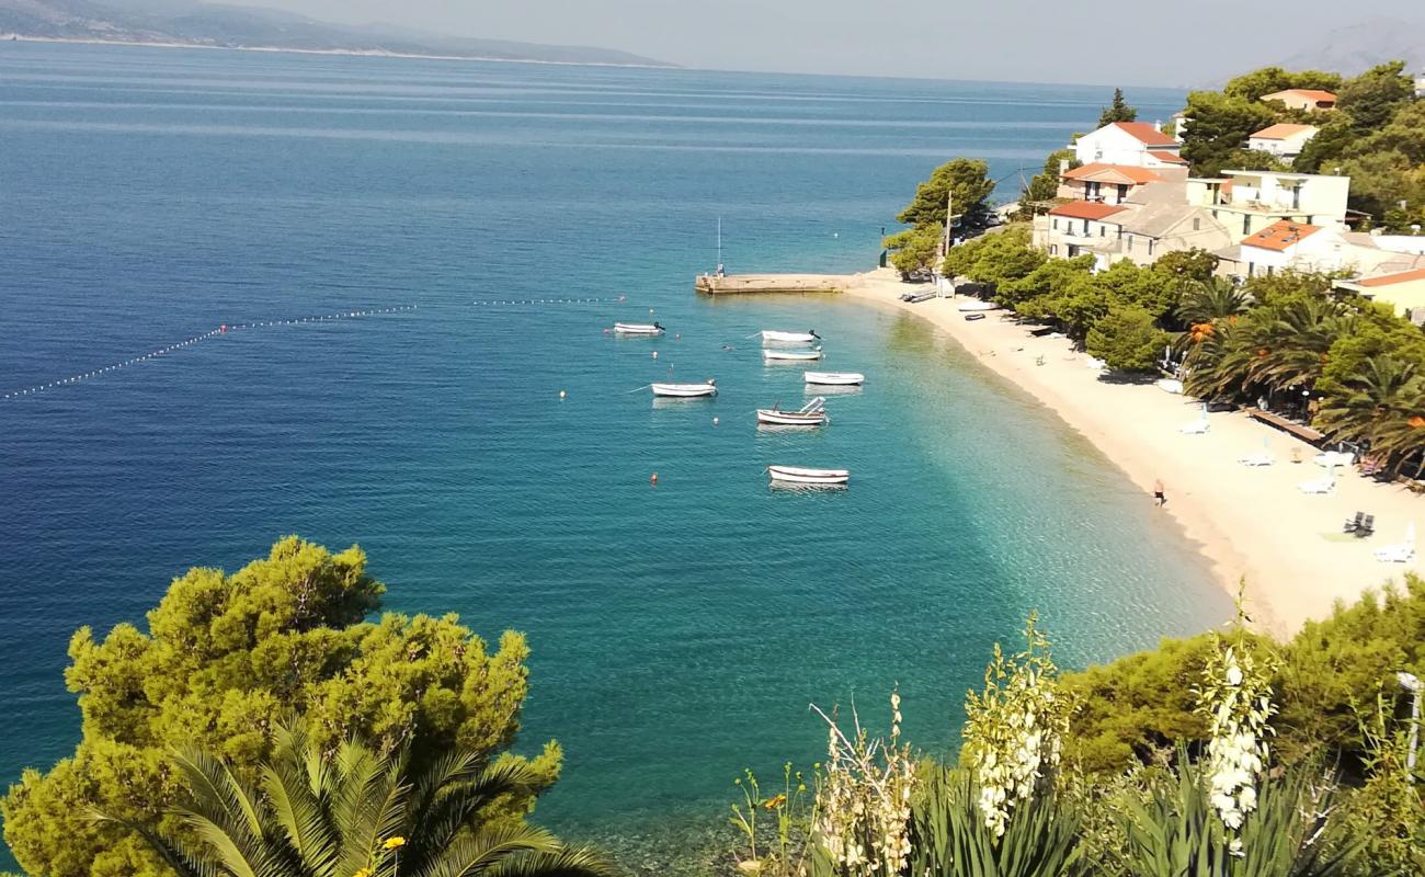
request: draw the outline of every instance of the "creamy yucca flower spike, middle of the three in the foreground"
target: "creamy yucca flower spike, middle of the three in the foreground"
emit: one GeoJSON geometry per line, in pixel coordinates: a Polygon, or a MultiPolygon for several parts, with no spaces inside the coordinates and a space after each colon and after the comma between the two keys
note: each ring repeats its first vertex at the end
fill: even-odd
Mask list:
{"type": "Polygon", "coordinates": [[[1057,696],[1049,642],[1025,629],[1029,647],[1006,660],[995,646],[985,670],[985,693],[970,693],[965,704],[966,754],[979,787],[978,806],[985,827],[1005,834],[1016,801],[1029,800],[1047,771],[1059,766],[1060,744],[1069,730],[1067,703],[1057,696]]]}

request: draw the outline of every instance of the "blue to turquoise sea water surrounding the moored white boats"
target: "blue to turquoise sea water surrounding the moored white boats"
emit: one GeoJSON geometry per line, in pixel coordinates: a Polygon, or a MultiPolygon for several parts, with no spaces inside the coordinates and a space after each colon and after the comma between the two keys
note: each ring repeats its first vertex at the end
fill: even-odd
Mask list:
{"type": "Polygon", "coordinates": [[[0,783],[73,750],[76,629],[286,533],[359,543],[386,609],[524,632],[517,749],[566,759],[536,819],[646,873],[730,860],[734,779],[824,757],[811,704],[884,729],[898,689],[953,757],[1027,613],[1066,667],[1223,622],[1113,461],[923,321],[693,289],[871,268],[938,164],[1010,200],[1109,98],[0,43],[0,783]],[[825,429],[755,426],[809,398],[762,328],[866,375],[825,429]]]}

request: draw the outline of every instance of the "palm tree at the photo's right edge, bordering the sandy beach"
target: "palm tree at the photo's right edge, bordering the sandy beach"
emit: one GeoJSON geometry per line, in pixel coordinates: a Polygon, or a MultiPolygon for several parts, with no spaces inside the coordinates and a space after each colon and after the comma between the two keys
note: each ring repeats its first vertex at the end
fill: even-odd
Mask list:
{"type": "Polygon", "coordinates": [[[1425,374],[1419,364],[1389,355],[1371,357],[1359,374],[1332,394],[1317,414],[1317,426],[1341,441],[1369,442],[1371,452],[1395,471],[1425,452],[1425,374]]]}

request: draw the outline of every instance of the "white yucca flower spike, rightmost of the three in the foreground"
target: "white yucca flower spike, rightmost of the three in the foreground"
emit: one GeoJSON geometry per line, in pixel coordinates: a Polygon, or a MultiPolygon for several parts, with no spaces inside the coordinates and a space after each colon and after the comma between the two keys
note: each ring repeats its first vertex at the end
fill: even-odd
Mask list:
{"type": "MultiPolygon", "coordinates": [[[[1274,707],[1268,696],[1270,680],[1258,672],[1251,655],[1228,646],[1220,660],[1208,666],[1208,684],[1200,707],[1208,716],[1211,739],[1207,743],[1208,800],[1230,833],[1257,809],[1257,780],[1267,767],[1270,750],[1267,720],[1274,707]]],[[[1241,841],[1231,843],[1240,854],[1241,841]]]]}

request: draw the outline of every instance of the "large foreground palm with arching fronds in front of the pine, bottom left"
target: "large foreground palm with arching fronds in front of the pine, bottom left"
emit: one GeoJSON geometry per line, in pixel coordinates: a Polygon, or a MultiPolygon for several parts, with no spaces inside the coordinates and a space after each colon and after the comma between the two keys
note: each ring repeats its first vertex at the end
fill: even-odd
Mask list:
{"type": "MultiPolygon", "coordinates": [[[[607,877],[591,851],[522,823],[490,823],[502,799],[539,777],[523,763],[449,753],[415,767],[409,747],[358,742],[326,757],[279,727],[256,783],[201,752],[174,757],[184,831],[138,831],[180,877],[607,877]]],[[[111,820],[120,821],[120,820],[111,820]]]]}

